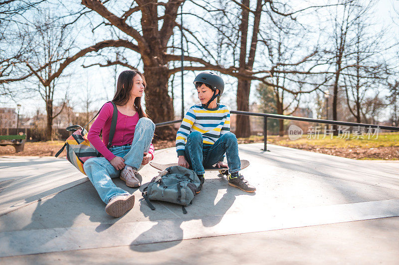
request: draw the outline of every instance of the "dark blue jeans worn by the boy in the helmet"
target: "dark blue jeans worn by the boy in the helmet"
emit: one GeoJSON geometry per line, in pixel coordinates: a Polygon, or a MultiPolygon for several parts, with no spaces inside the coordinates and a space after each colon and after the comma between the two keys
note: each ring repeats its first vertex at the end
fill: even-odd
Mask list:
{"type": "Polygon", "coordinates": [[[231,132],[219,137],[213,145],[202,143],[202,134],[192,132],[187,137],[185,158],[194,172],[203,175],[203,167],[210,167],[219,162],[226,154],[227,165],[230,173],[241,170],[241,162],[238,156],[237,138],[231,132]]]}

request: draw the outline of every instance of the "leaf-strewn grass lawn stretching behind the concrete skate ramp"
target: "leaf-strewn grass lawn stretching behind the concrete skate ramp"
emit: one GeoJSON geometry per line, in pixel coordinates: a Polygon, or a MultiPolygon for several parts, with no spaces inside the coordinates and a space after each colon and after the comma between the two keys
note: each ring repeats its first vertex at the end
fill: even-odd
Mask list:
{"type": "MultiPolygon", "coordinates": [[[[310,137],[309,137],[310,138],[310,137]]],[[[302,135],[298,140],[290,140],[288,136],[267,136],[267,143],[292,147],[328,155],[347,157],[352,159],[371,160],[399,160],[399,133],[380,133],[368,139],[356,138],[350,135],[349,139],[334,136],[333,139],[308,139],[302,135]],[[377,138],[377,139],[376,139],[377,138]]],[[[238,138],[238,143],[262,143],[263,136],[238,138]]],[[[15,153],[12,146],[0,147],[0,156],[54,156],[64,145],[64,141],[26,142],[23,152],[15,153]]],[[[174,147],[175,141],[158,141],[154,143],[155,149],[174,147]]],[[[65,150],[60,156],[65,156],[65,150]]]]}

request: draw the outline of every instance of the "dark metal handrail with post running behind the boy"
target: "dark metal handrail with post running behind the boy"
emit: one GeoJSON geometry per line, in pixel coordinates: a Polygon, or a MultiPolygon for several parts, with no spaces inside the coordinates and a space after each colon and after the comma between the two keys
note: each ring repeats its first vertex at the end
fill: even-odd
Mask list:
{"type": "MultiPolygon", "coordinates": [[[[317,122],[317,123],[333,124],[333,125],[360,126],[360,127],[366,127],[366,128],[379,128],[382,130],[399,131],[399,127],[396,127],[396,126],[386,126],[386,125],[376,125],[376,124],[336,121],[336,120],[313,119],[313,118],[296,117],[296,116],[289,116],[289,115],[248,112],[248,111],[241,111],[241,110],[231,110],[230,113],[238,114],[238,115],[247,115],[247,116],[258,116],[258,117],[264,118],[264,123],[263,123],[264,149],[263,150],[267,150],[267,148],[266,148],[266,146],[267,146],[267,143],[266,143],[267,142],[267,118],[280,119],[280,120],[297,120],[297,121],[317,122]]],[[[182,122],[182,120],[160,122],[155,125],[157,127],[162,127],[162,126],[167,126],[167,125],[171,125],[171,124],[178,123],[178,122],[182,122]]]]}

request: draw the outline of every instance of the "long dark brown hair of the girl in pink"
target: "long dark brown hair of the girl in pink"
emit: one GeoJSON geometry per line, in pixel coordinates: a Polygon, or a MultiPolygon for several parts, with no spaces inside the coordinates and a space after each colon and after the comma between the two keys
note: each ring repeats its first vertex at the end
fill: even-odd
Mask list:
{"type": "MultiPolygon", "coordinates": [[[[140,75],[141,78],[143,79],[144,83],[144,93],[145,93],[145,88],[147,88],[147,83],[146,79],[144,78],[144,75],[140,73],[137,70],[128,70],[128,71],[123,71],[119,77],[118,77],[118,83],[116,85],[116,92],[114,95],[114,99],[112,101],[120,106],[126,105],[126,103],[130,99],[130,92],[132,91],[133,88],[133,79],[136,75],[140,75]]],[[[134,100],[134,109],[139,113],[139,117],[148,117],[147,113],[143,111],[143,108],[141,107],[141,97],[136,97],[134,100]]]]}

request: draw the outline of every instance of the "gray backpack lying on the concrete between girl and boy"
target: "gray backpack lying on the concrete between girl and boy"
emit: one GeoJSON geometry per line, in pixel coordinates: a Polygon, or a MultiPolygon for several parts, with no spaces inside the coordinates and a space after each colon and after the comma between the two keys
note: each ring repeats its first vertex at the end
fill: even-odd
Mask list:
{"type": "Polygon", "coordinates": [[[200,186],[200,179],[194,171],[173,166],[161,171],[143,190],[143,197],[152,210],[154,205],[150,200],[161,200],[183,205],[190,205],[200,186]]]}

